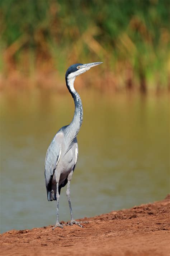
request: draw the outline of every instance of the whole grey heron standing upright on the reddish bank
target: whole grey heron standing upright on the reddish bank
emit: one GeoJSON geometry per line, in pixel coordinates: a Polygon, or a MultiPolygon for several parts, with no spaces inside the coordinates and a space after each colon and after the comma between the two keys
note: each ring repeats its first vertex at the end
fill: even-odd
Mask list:
{"type": "Polygon", "coordinates": [[[75,103],[74,117],[69,125],[63,126],[56,133],[47,149],[45,160],[47,198],[48,201],[57,201],[57,219],[55,226],[53,226],[53,230],[56,227],[63,228],[64,226],[64,224],[60,224],[59,222],[59,198],[61,188],[65,187],[66,184],[66,194],[71,214],[71,221],[66,225],[72,226],[73,224],[76,224],[82,227],[81,224],[86,223],[76,221],[74,219],[70,199],[70,181],[78,158],[78,144],[76,136],[79,133],[83,116],[81,98],[77,91],[74,89],[74,81],[77,76],[86,72],[91,67],[97,66],[101,63],[102,62],[94,62],[88,64],[77,63],[70,66],[66,71],[66,86],[75,103]]]}

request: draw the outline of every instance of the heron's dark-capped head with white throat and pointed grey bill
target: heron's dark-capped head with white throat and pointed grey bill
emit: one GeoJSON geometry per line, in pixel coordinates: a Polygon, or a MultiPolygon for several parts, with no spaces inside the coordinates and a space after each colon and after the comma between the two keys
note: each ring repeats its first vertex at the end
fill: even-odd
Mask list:
{"type": "Polygon", "coordinates": [[[93,62],[88,64],[77,63],[71,65],[66,71],[66,84],[71,91],[74,91],[74,80],[76,76],[81,75],[92,67],[95,67],[103,62],[93,62]]]}

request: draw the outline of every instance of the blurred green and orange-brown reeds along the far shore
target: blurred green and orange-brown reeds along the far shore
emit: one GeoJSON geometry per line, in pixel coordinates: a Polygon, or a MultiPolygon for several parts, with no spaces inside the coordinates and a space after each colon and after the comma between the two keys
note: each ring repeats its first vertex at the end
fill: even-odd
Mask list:
{"type": "Polygon", "coordinates": [[[60,79],[72,63],[103,61],[94,86],[168,89],[169,9],[169,0],[1,0],[0,72],[60,79]]]}

